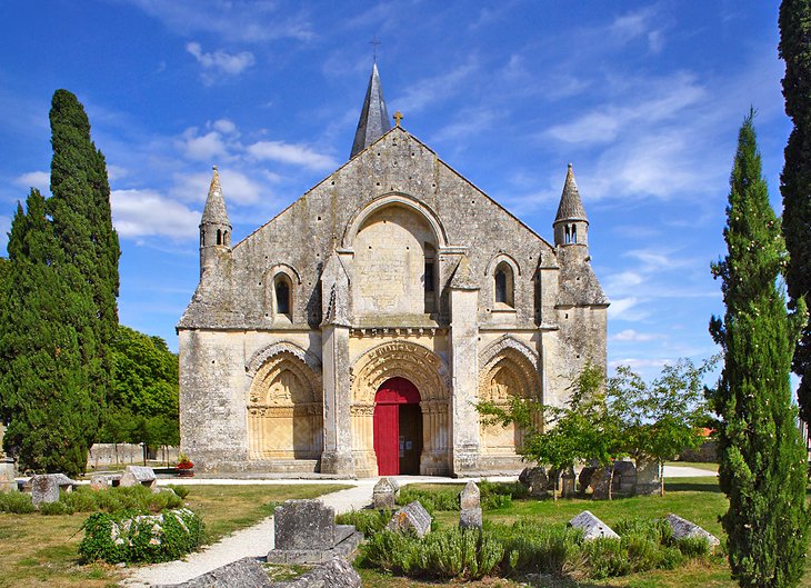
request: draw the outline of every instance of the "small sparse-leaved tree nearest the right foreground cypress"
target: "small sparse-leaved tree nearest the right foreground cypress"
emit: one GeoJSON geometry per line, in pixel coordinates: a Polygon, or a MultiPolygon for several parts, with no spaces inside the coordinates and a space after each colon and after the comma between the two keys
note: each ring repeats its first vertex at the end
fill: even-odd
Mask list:
{"type": "Polygon", "coordinates": [[[667,365],[649,386],[625,366],[608,382],[608,402],[621,421],[625,451],[637,466],[655,461],[664,496],[664,462],[703,441],[707,420],[703,377],[714,359],[695,367],[689,359],[667,365]]]}

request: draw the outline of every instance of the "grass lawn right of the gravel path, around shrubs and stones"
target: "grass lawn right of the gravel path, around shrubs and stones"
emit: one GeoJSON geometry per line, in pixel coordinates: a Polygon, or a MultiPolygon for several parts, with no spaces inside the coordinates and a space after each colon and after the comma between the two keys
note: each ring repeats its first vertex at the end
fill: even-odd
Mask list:
{"type": "MultiPolygon", "coordinates": [[[[691,464],[692,466],[692,464],[691,464]]],[[[710,466],[710,465],[707,465],[710,466]]],[[[430,488],[430,485],[414,485],[414,488],[430,488]]],[[[565,522],[583,510],[590,510],[609,526],[625,517],[663,517],[675,512],[697,522],[721,538],[723,531],[718,517],[728,507],[727,497],[721,494],[718,480],[712,477],[665,479],[665,496],[621,498],[612,501],[590,499],[558,500],[513,500],[508,508],[488,510],[485,520],[512,522],[518,519],[534,518],[544,522],[565,522]]],[[[459,512],[438,511],[434,514],[442,525],[457,525],[459,512]]],[[[811,552],[809,554],[811,555],[811,552]]],[[[376,570],[360,570],[363,586],[368,588],[431,588],[437,584],[392,577],[376,570]]],[[[572,580],[539,577],[515,579],[483,579],[464,584],[465,588],[519,588],[529,582],[535,588],[737,588],[730,578],[729,567],[723,556],[697,560],[674,570],[653,570],[632,574],[604,581],[575,582],[572,580]],[[524,582],[524,584],[522,584],[524,582]]],[[[800,582],[801,588],[811,588],[811,574],[800,582]]]]}

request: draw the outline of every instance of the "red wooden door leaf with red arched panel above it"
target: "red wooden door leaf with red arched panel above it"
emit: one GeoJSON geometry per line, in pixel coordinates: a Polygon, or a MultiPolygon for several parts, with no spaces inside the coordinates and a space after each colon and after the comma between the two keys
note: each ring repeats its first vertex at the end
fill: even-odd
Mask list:
{"type": "Polygon", "coordinates": [[[419,405],[420,392],[406,378],[391,378],[374,395],[374,454],[378,475],[400,474],[400,405],[419,405]]]}

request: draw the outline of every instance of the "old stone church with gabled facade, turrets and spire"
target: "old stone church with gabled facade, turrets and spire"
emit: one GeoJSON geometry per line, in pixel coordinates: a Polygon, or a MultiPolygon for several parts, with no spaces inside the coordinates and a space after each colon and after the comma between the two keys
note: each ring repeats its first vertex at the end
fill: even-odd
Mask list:
{"type": "Polygon", "coordinates": [[[199,470],[514,472],[522,431],[483,426],[477,401],[560,405],[587,361],[604,369],[571,166],[549,242],[401,119],[374,66],[349,161],[233,246],[214,168],[177,328],[199,470]]]}

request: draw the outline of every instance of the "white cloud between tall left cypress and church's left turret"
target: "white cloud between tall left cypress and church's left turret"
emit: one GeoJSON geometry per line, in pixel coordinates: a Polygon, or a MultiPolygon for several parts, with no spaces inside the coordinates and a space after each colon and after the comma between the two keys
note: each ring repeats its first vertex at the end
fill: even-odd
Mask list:
{"type": "Polygon", "coordinates": [[[113,190],[112,221],[124,239],[162,236],[172,240],[196,237],[201,212],[154,190],[113,190]]]}

